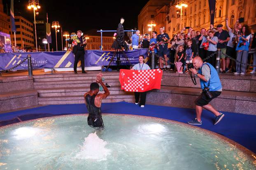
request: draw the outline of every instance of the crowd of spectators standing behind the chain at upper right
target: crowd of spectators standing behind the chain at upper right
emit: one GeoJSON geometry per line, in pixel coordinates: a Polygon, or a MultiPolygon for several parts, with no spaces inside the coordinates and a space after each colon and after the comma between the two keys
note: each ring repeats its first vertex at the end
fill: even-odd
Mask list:
{"type": "MultiPolygon", "coordinates": [[[[251,56],[249,54],[252,54],[253,65],[256,65],[256,35],[248,25],[239,23],[239,20],[236,21],[233,28],[229,27],[228,18],[225,21],[227,30],[223,29],[222,24],[216,25],[216,28],[210,25],[210,29],[202,28],[200,30],[184,27],[171,39],[164,32],[163,27],[160,27],[158,35],[154,31],[152,38],[149,34],[140,35],[140,31],[137,30],[131,36],[128,45],[130,45],[131,50],[135,50],[137,48],[149,48],[152,44],[157,44],[154,52],[158,56],[158,67],[166,71],[177,70],[179,73],[187,73],[185,65],[191,63],[195,56],[200,56],[202,59],[211,56],[206,62],[215,67],[216,51],[221,49],[221,73],[233,72],[234,74],[244,75],[248,67],[247,64],[241,64],[240,62],[250,63],[251,56]],[[168,45],[170,48],[168,48],[168,45]],[[225,54],[240,62],[231,60],[225,54]],[[176,67],[171,65],[168,69],[167,61],[175,63],[176,67]]],[[[251,73],[256,73],[256,67],[253,68],[251,73]]]]}

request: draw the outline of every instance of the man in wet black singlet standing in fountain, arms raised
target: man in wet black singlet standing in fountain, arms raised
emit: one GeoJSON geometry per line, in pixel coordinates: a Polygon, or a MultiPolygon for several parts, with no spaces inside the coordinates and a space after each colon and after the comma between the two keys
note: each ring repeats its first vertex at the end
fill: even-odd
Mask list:
{"type": "Polygon", "coordinates": [[[97,130],[103,130],[104,129],[104,123],[101,117],[101,101],[102,99],[107,98],[109,95],[109,90],[105,86],[105,84],[102,82],[102,73],[99,73],[96,78],[96,82],[91,83],[90,85],[90,91],[84,94],[84,100],[87,107],[87,110],[89,112],[89,116],[87,118],[88,125],[97,129],[97,130]],[[105,93],[99,92],[99,84],[103,87],[105,93]]]}

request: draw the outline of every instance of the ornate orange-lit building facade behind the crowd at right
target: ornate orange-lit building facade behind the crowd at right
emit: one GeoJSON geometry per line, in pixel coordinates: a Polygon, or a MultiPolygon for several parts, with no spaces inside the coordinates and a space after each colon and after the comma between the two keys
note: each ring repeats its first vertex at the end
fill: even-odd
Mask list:
{"type": "MultiPolygon", "coordinates": [[[[138,16],[138,28],[144,26],[144,33],[150,33],[145,29],[145,25],[149,20],[153,19],[156,22],[155,30],[158,32],[159,27],[165,27],[165,32],[169,36],[173,36],[180,32],[183,27],[192,27],[194,30],[201,28],[208,29],[210,27],[210,12],[208,0],[187,0],[188,7],[181,10],[176,8],[176,1],[169,2],[168,5],[162,4],[163,1],[150,0],[145,7],[142,8],[138,16]],[[159,2],[159,3],[157,3],[159,2]],[[148,11],[151,4],[159,4],[155,11],[151,11],[151,17],[148,17],[148,11]],[[162,4],[162,5],[160,5],[162,4]],[[161,15],[160,15],[161,14],[161,15]],[[154,15],[154,17],[153,17],[154,15]],[[165,20],[163,22],[163,19],[165,20]],[[142,22],[143,21],[143,22],[142,22]],[[142,24],[143,23],[143,24],[142,24]]],[[[233,27],[238,18],[244,18],[244,23],[256,31],[256,0],[216,0],[214,27],[218,24],[223,24],[225,28],[225,18],[228,18],[230,27],[233,27]]]]}

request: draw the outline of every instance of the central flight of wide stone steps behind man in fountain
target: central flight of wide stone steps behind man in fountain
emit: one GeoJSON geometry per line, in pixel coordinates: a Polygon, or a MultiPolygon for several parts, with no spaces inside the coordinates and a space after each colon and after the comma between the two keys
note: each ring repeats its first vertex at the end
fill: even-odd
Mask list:
{"type": "MultiPolygon", "coordinates": [[[[90,90],[98,72],[87,74],[54,74],[34,76],[34,88],[38,92],[38,104],[81,104],[84,93],[90,90]]],[[[110,84],[110,95],[102,102],[135,102],[134,94],[121,90],[119,73],[103,73],[103,82],[110,84]]],[[[99,93],[104,93],[100,91],[99,93]]]]}

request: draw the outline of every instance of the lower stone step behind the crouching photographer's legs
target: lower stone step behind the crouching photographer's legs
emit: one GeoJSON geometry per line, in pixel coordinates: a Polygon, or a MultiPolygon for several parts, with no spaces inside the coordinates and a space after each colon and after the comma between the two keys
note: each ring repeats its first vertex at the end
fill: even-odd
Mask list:
{"type": "MultiPolygon", "coordinates": [[[[161,90],[149,91],[147,102],[158,105],[195,108],[195,100],[201,88],[163,86],[161,90]]],[[[256,115],[256,93],[222,91],[221,95],[210,102],[218,111],[256,115]]]]}

